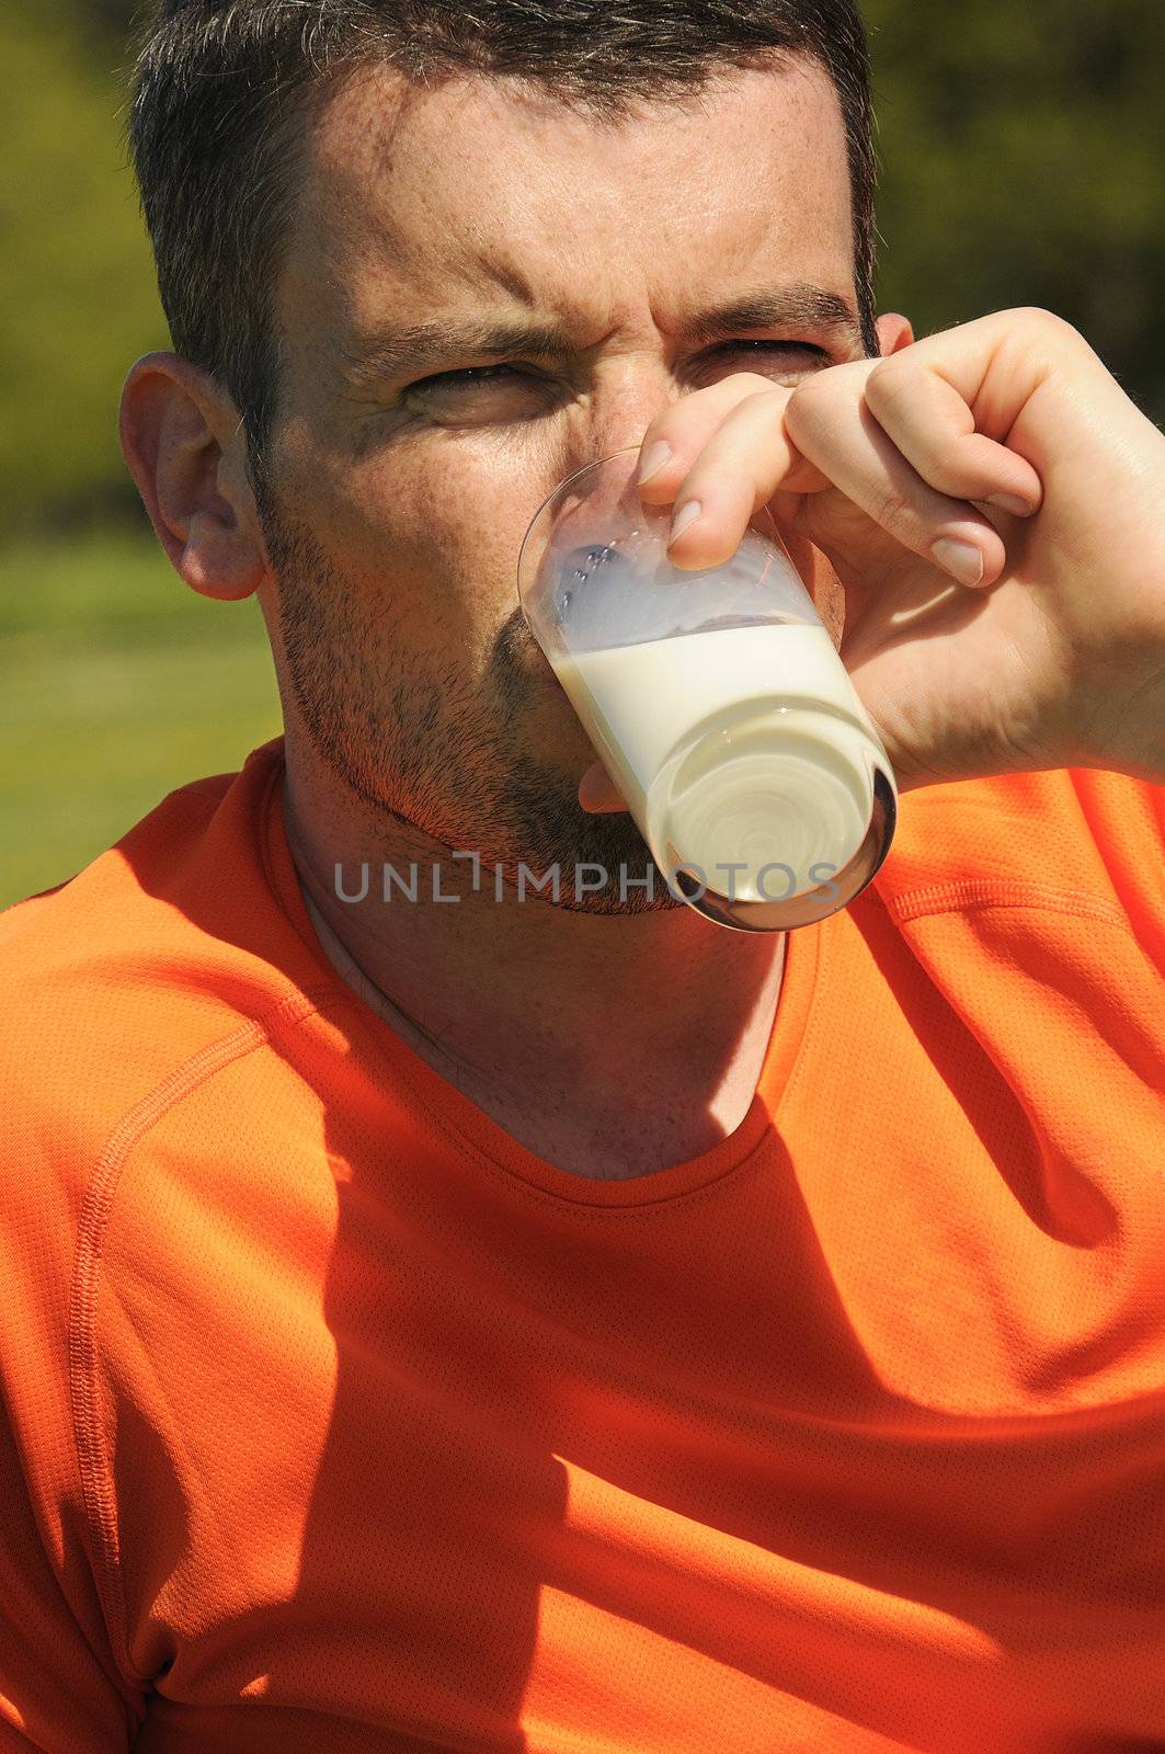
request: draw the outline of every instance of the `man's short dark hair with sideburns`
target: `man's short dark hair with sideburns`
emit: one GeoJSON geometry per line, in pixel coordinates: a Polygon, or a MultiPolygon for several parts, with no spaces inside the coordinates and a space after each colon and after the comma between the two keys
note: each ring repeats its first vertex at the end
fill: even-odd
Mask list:
{"type": "Polygon", "coordinates": [[[416,84],[514,77],[618,121],[733,67],[790,54],[830,74],[846,118],[854,281],[874,333],[868,53],[854,0],[161,0],[140,30],[128,144],[177,353],[230,391],[254,475],[274,424],[274,288],[307,123],[374,65],[416,84]]]}

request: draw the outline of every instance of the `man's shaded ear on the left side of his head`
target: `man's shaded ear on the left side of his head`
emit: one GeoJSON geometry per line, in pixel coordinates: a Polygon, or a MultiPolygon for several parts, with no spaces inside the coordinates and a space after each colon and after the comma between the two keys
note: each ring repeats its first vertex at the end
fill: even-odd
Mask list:
{"type": "Polygon", "coordinates": [[[121,451],[170,565],[191,591],[237,600],[267,574],[242,421],[209,372],[147,353],[121,388],[121,451]]]}

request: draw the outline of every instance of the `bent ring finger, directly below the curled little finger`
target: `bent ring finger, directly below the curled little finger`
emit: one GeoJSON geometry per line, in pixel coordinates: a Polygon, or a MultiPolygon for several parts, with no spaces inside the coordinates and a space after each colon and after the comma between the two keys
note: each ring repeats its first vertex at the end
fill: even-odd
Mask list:
{"type": "Polygon", "coordinates": [[[1007,560],[998,530],[965,500],[937,493],[898,451],[865,405],[872,370],[835,365],[800,384],[784,412],[793,444],[902,547],[958,584],[993,584],[1007,560]]]}

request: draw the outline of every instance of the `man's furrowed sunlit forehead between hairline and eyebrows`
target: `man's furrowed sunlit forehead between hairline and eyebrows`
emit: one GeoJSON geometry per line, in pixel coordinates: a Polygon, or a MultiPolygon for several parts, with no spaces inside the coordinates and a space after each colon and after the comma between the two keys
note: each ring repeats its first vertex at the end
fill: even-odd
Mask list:
{"type": "Polygon", "coordinates": [[[416,88],[374,67],[309,133],[279,307],[291,337],[482,302],[667,326],[765,275],[853,286],[846,130],[816,61],[618,123],[511,79],[416,88]]]}

